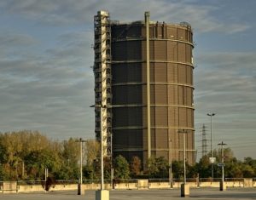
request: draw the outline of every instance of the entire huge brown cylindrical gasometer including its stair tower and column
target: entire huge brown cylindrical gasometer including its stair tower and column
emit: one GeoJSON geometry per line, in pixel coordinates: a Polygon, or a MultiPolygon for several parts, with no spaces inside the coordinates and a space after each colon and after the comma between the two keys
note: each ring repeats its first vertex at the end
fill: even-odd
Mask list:
{"type": "Polygon", "coordinates": [[[186,22],[152,22],[146,12],[143,21],[120,23],[97,13],[96,138],[102,130],[105,155],[183,160],[185,134],[195,162],[193,48],[186,22]]]}

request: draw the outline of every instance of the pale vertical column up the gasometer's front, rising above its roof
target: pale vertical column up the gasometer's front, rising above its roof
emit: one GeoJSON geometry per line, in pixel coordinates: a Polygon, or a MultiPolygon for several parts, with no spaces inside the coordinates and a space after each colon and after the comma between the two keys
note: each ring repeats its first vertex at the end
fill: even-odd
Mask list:
{"type": "Polygon", "coordinates": [[[148,118],[148,158],[151,157],[151,119],[150,119],[150,62],[149,62],[149,12],[145,12],[146,25],[146,66],[147,66],[147,118],[148,118]]]}

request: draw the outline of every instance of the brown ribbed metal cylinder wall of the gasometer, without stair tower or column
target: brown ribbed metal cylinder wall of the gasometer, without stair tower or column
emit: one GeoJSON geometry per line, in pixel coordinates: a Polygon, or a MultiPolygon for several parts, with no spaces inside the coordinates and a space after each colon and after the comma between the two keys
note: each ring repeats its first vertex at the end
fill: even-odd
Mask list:
{"type": "MultiPolygon", "coordinates": [[[[146,33],[143,22],[111,25],[113,155],[147,161],[146,33]]],[[[195,162],[192,31],[150,23],[151,154],[195,162]],[[170,149],[172,140],[172,149],[170,149]],[[171,152],[170,152],[171,151],[171,152]]]]}

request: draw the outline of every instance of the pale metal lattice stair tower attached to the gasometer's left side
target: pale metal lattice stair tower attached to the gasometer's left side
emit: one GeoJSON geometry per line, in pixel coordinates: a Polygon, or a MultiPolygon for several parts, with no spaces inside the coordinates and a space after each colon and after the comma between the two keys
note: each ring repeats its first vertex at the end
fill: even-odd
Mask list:
{"type": "Polygon", "coordinates": [[[95,26],[95,112],[96,139],[104,146],[104,156],[112,155],[112,92],[111,92],[111,27],[109,14],[99,11],[94,17],[95,26]],[[102,124],[101,124],[102,123],[102,124]]]}

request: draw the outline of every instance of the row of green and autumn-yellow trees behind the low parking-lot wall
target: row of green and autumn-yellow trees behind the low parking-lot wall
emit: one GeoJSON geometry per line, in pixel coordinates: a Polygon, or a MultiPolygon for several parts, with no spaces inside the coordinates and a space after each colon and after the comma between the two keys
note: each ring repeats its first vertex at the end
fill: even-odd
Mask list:
{"type": "MultiPolygon", "coordinates": [[[[221,163],[220,150],[213,151],[221,163]]],[[[83,180],[100,180],[100,144],[96,140],[83,143],[83,180]]],[[[225,177],[256,177],[256,160],[246,157],[239,161],[230,148],[224,149],[225,177]]],[[[148,168],[143,171],[139,157],[132,157],[128,163],[125,157],[115,157],[113,162],[104,159],[104,175],[110,180],[111,169],[114,179],[160,178],[167,179],[170,165],[164,157],[151,157],[148,168]]],[[[1,180],[44,180],[44,170],[55,180],[79,180],[80,150],[79,139],[50,140],[38,131],[19,131],[0,134],[0,181],[1,180]]],[[[187,177],[209,178],[212,165],[209,155],[201,158],[199,163],[187,164],[187,177]]],[[[173,178],[183,178],[183,161],[172,162],[173,178]]],[[[214,178],[221,177],[221,169],[214,164],[214,178]]]]}

